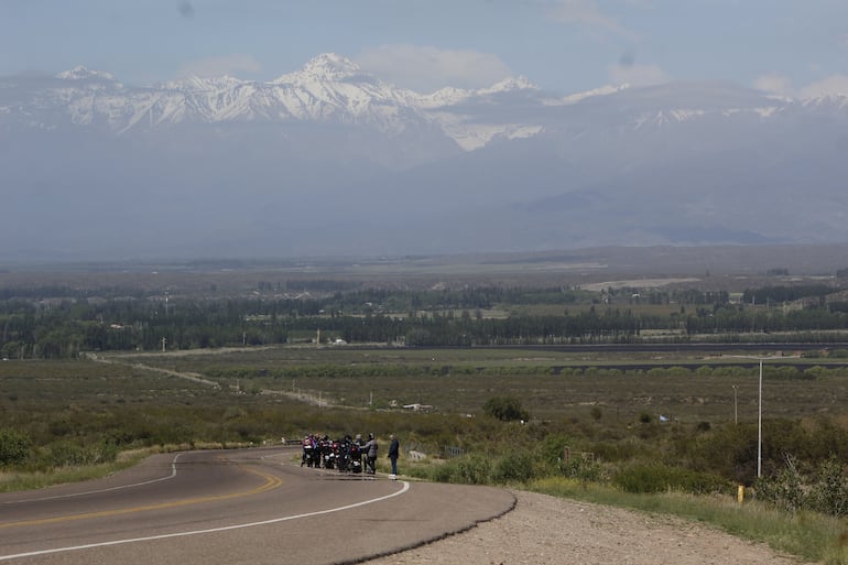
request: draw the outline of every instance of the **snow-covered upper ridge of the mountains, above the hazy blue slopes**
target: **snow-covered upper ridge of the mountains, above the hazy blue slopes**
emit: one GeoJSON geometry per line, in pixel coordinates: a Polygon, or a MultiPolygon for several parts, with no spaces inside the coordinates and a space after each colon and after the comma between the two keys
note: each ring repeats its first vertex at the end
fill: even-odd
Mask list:
{"type": "MultiPolygon", "coordinates": [[[[3,116],[8,120],[15,113],[37,118],[37,107],[50,105],[53,94],[54,105],[64,102],[72,122],[84,126],[105,122],[117,134],[183,121],[216,123],[258,119],[336,120],[396,134],[406,129],[409,121],[416,121],[438,126],[460,149],[472,151],[493,140],[528,137],[544,129],[544,119],[539,116],[535,119],[526,116],[491,119],[489,116],[488,121],[481,121],[480,108],[493,104],[498,111],[502,111],[503,104],[499,98],[503,97],[511,98],[512,104],[520,100],[525,107],[544,113],[544,110],[563,106],[590,105],[599,98],[626,95],[629,97],[627,104],[638,104],[641,108],[641,115],[632,119],[632,126],[637,128],[721,111],[753,111],[771,117],[797,105],[848,108],[848,97],[844,96],[779,100],[728,83],[678,83],[641,89],[627,85],[608,86],[561,96],[543,93],[526,77],[518,76],[477,90],[447,87],[432,94],[418,94],[382,82],[365,73],[352,61],[333,53],[320,54],[301,69],[265,83],[225,75],[191,76],[150,87],[128,87],[109,73],[85,66],[58,73],[55,78],[61,83],[52,89],[42,87],[35,95],[24,89],[12,104],[0,100],[0,120],[3,116]],[[671,104],[670,99],[676,99],[677,104],[671,104]],[[716,100],[721,100],[725,106],[706,108],[716,100]],[[469,107],[476,108],[468,112],[469,107]]],[[[51,117],[56,118],[55,115],[51,117]]]]}

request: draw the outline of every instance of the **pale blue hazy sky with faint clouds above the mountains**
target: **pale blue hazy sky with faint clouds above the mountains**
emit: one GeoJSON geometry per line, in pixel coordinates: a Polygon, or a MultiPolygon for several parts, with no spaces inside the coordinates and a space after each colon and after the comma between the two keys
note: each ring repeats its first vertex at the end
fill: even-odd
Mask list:
{"type": "Polygon", "coordinates": [[[272,80],[335,52],[398,86],[727,79],[848,94],[846,0],[0,0],[0,75],[272,80]]]}

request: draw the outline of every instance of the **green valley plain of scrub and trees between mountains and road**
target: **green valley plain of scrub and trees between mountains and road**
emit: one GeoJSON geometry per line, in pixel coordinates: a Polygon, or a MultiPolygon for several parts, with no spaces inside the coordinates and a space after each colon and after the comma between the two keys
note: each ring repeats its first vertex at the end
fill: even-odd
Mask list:
{"type": "Polygon", "coordinates": [[[298,284],[4,289],[0,491],[153,452],[394,433],[407,477],[668,512],[848,564],[838,285],[298,284]],[[707,338],[724,345],[660,347],[707,338]],[[574,347],[605,344],[642,347],[574,347]]]}

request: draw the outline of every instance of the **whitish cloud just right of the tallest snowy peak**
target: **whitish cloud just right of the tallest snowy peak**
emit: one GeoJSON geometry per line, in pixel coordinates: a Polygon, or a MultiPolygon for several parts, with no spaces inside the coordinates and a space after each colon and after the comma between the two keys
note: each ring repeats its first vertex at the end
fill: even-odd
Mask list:
{"type": "Polygon", "coordinates": [[[416,45],[381,45],[356,57],[363,70],[417,93],[446,86],[480,88],[512,76],[496,55],[416,45]]]}

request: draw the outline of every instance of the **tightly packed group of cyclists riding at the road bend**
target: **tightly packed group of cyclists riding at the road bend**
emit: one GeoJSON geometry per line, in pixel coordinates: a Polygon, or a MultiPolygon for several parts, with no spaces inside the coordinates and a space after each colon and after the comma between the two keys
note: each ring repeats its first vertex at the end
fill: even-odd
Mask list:
{"type": "Polygon", "coordinates": [[[377,439],[368,434],[363,441],[361,434],[356,437],[345,435],[340,439],[330,439],[327,435],[308,434],[304,436],[301,467],[337,469],[341,472],[377,472],[377,439]]]}

